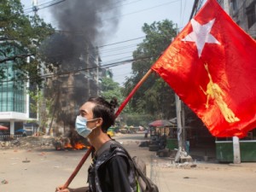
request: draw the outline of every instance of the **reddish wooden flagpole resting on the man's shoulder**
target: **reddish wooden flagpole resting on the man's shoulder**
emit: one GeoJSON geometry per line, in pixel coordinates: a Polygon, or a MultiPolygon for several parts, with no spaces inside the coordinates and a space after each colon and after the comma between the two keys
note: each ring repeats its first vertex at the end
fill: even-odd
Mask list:
{"type": "MultiPolygon", "coordinates": [[[[129,94],[129,96],[127,96],[125,98],[125,101],[122,102],[122,104],[120,105],[119,109],[117,110],[117,112],[115,113],[115,118],[117,118],[119,116],[119,113],[122,112],[122,110],[125,108],[125,105],[130,101],[131,97],[136,93],[136,91],[138,90],[138,88],[144,83],[144,81],[146,79],[148,79],[148,76],[153,72],[153,70],[150,68],[148,70],[148,72],[143,76],[143,79],[141,79],[137,85],[133,88],[133,90],[131,90],[131,93],[129,94]]],[[[90,148],[88,148],[88,150],[86,151],[86,153],[84,154],[84,157],[82,158],[82,160],[80,160],[79,165],[75,168],[75,170],[73,171],[73,173],[71,174],[71,176],[67,179],[67,182],[63,185],[63,189],[67,189],[67,187],[69,186],[69,184],[73,181],[73,178],[76,177],[76,175],[78,174],[79,170],[81,169],[81,167],[84,165],[85,160],[87,160],[88,156],[90,155],[90,152],[92,151],[92,146],[90,146],[90,148]]]]}

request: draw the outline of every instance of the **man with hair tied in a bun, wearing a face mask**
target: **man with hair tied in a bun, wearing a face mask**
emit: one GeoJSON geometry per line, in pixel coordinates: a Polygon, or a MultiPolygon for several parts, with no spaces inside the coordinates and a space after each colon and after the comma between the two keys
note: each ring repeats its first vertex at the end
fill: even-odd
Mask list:
{"type": "Polygon", "coordinates": [[[108,137],[108,128],[114,124],[114,107],[102,97],[91,97],[79,109],[76,130],[87,137],[95,148],[88,170],[88,187],[63,189],[60,192],[131,192],[137,190],[132,161],[119,144],[108,137]]]}

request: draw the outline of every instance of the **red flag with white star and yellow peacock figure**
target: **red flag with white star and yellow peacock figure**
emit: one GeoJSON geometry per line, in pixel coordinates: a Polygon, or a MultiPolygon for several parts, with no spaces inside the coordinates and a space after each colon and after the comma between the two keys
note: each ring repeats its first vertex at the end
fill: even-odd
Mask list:
{"type": "Polygon", "coordinates": [[[208,0],[151,67],[215,137],[256,127],[256,42],[208,0]]]}

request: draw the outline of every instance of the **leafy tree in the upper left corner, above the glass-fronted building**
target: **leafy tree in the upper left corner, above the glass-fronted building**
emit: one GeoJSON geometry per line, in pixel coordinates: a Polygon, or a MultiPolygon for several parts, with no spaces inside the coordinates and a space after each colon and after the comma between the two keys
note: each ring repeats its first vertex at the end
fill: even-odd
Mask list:
{"type": "MultiPolygon", "coordinates": [[[[0,64],[12,63],[15,74],[12,80],[31,79],[32,84],[41,84],[41,56],[38,47],[54,29],[38,15],[28,16],[23,12],[20,0],[2,0],[0,3],[0,64]],[[31,57],[30,62],[26,61],[31,57]]],[[[45,63],[46,67],[50,64],[45,63]]],[[[0,67],[0,79],[6,78],[0,67]]]]}

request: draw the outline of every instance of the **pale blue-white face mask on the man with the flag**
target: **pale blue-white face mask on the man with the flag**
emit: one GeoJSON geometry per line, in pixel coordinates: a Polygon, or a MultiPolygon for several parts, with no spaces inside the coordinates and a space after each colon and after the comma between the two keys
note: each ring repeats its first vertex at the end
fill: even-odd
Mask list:
{"type": "MultiPolygon", "coordinates": [[[[94,119],[91,119],[91,120],[94,120],[94,119]]],[[[82,137],[88,137],[90,135],[91,131],[96,129],[96,127],[92,128],[92,129],[88,128],[86,125],[87,122],[88,122],[88,120],[86,118],[84,118],[80,115],[77,116],[75,127],[76,127],[76,131],[82,137]]]]}

